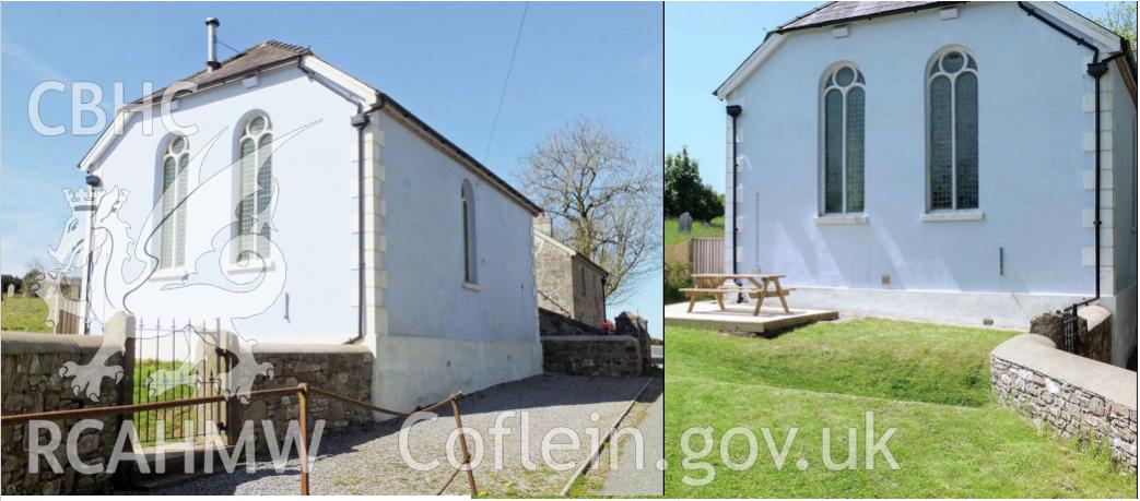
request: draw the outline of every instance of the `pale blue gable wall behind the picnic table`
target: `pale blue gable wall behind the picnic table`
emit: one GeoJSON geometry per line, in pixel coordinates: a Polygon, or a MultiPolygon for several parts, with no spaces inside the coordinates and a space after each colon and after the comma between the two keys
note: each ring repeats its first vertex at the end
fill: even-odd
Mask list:
{"type": "MultiPolygon", "coordinates": [[[[958,9],[951,19],[930,9],[852,23],[841,39],[826,27],[790,33],[727,97],[725,104],[743,106],[736,138],[739,156],[747,158],[738,173],[744,191],[735,243],[743,250],[741,271],[783,273],[790,285],[805,287],[793,305],[826,297],[836,301],[828,307],[882,309],[862,302],[889,297],[904,318],[988,318],[1015,328],[1092,296],[1085,248],[1094,235],[1085,220],[1094,192],[1083,182],[1094,162],[1084,145],[1094,129],[1094,114],[1084,109],[1093,92],[1085,73],[1092,54],[1016,3],[958,9]],[[926,69],[947,46],[964,47],[978,64],[980,221],[921,220],[926,69]],[[842,60],[866,79],[866,221],[824,225],[815,221],[820,82],[842,60]]],[[[731,158],[726,170],[731,179],[731,158]]],[[[733,195],[726,187],[730,206],[733,195]]],[[[1114,290],[1106,286],[1104,293],[1114,290]]]]}

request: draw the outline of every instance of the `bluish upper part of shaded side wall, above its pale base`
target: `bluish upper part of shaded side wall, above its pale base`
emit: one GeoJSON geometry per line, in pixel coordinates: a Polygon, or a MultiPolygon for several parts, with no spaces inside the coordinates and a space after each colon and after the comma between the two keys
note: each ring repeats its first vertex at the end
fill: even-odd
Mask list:
{"type": "Polygon", "coordinates": [[[537,339],[531,214],[382,116],[389,334],[537,339]],[[463,287],[464,180],[475,192],[479,290],[463,287]]]}

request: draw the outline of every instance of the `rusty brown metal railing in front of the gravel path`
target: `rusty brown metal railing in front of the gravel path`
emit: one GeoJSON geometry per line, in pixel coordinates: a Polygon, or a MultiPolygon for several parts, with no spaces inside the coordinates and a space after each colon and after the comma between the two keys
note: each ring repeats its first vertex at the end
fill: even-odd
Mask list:
{"type": "MultiPolygon", "coordinates": [[[[396,411],[396,410],[382,408],[380,405],[373,405],[370,403],[361,402],[359,400],[351,399],[351,397],[348,397],[348,396],[344,396],[344,395],[340,395],[340,394],[336,394],[336,393],[333,393],[333,392],[329,392],[329,391],[326,391],[326,389],[310,387],[306,383],[302,383],[302,384],[300,384],[300,385],[298,385],[295,387],[272,388],[272,389],[255,389],[255,391],[250,392],[250,400],[266,397],[266,396],[276,396],[276,395],[293,395],[293,394],[295,394],[298,396],[298,404],[299,404],[298,420],[300,421],[300,425],[301,425],[300,426],[300,428],[301,428],[301,440],[300,440],[300,444],[298,445],[298,457],[299,457],[300,462],[301,462],[301,495],[309,495],[309,428],[308,428],[308,421],[309,421],[309,419],[308,419],[308,414],[309,414],[309,397],[310,397],[310,393],[314,394],[314,395],[320,395],[320,396],[326,397],[326,399],[339,400],[341,402],[345,402],[345,403],[349,403],[349,404],[352,404],[352,405],[357,405],[357,406],[363,406],[365,409],[368,409],[368,410],[372,410],[372,411],[375,411],[375,412],[382,412],[382,413],[385,413],[385,414],[396,416],[396,417],[400,417],[400,418],[407,418],[407,417],[409,417],[409,416],[412,416],[412,414],[415,413],[415,412],[396,411]]],[[[463,463],[459,466],[459,468],[456,468],[456,470],[451,473],[451,475],[448,477],[447,482],[445,482],[443,485],[439,488],[439,491],[435,492],[437,495],[442,494],[443,491],[446,491],[447,487],[451,485],[451,482],[455,481],[455,477],[459,474],[459,471],[466,471],[466,474],[467,474],[467,484],[470,484],[470,486],[471,486],[471,495],[475,496],[475,495],[478,495],[478,492],[479,492],[478,488],[475,487],[475,476],[474,476],[474,473],[472,471],[472,468],[471,468],[471,453],[467,450],[467,437],[463,433],[463,418],[459,416],[459,403],[458,403],[458,400],[461,397],[463,397],[463,392],[455,392],[451,395],[449,395],[447,399],[445,399],[442,401],[439,401],[439,402],[437,402],[434,404],[431,404],[427,408],[422,409],[422,410],[418,411],[418,412],[430,412],[430,411],[439,409],[439,408],[441,408],[443,405],[450,404],[451,405],[451,411],[455,413],[455,427],[456,427],[456,429],[459,433],[459,449],[463,452],[463,463]]],[[[150,402],[150,403],[128,404],[128,405],[112,405],[112,406],[105,406],[105,408],[71,409],[71,410],[63,410],[63,411],[31,412],[31,413],[26,413],[26,414],[15,414],[15,416],[0,416],[0,426],[22,425],[22,424],[26,424],[27,421],[32,421],[32,420],[66,420],[66,419],[93,418],[93,417],[99,417],[99,416],[133,414],[136,412],[147,412],[147,411],[160,410],[160,409],[165,409],[165,408],[171,408],[171,406],[201,405],[201,404],[210,404],[210,403],[217,403],[217,402],[226,402],[226,400],[227,399],[225,396],[222,396],[222,395],[213,395],[213,396],[199,396],[199,397],[184,399],[184,400],[170,400],[170,401],[164,401],[164,402],[150,402]]]]}

